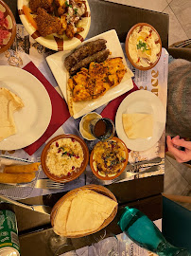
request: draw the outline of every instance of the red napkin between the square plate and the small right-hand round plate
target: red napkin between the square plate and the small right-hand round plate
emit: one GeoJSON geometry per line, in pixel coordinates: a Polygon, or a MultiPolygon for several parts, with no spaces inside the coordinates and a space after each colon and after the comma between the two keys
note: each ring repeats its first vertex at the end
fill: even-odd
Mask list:
{"type": "MultiPolygon", "coordinates": [[[[133,82],[133,81],[132,81],[132,82],[133,82]]],[[[120,103],[121,103],[130,93],[135,92],[135,91],[137,91],[137,90],[139,90],[139,88],[138,88],[137,85],[133,82],[133,88],[132,88],[129,92],[127,92],[127,93],[125,93],[125,94],[123,94],[123,95],[117,97],[117,98],[114,99],[113,101],[110,101],[110,103],[108,103],[107,106],[106,106],[106,107],[103,109],[103,111],[101,112],[101,116],[102,116],[103,118],[112,119],[112,120],[114,121],[115,115],[116,115],[116,111],[117,111],[117,109],[118,109],[120,103]]]]}

